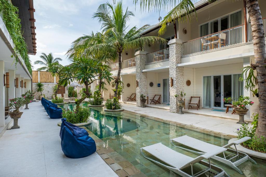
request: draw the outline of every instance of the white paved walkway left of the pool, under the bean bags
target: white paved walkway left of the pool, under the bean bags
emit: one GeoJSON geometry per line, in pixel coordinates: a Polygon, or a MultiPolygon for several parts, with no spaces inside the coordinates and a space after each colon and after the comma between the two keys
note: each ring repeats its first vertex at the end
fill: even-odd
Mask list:
{"type": "Polygon", "coordinates": [[[19,119],[19,129],[0,138],[0,176],[117,176],[95,152],[79,159],[61,150],[60,119],[50,119],[41,102],[29,104],[19,119]]]}

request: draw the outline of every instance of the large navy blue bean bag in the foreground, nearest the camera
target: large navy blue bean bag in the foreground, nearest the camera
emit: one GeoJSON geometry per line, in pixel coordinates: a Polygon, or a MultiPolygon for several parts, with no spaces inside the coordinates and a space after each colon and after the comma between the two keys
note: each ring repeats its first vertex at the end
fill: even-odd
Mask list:
{"type": "Polygon", "coordinates": [[[85,129],[66,122],[66,118],[61,120],[61,148],[66,157],[82,158],[96,151],[95,141],[88,136],[85,129]]]}

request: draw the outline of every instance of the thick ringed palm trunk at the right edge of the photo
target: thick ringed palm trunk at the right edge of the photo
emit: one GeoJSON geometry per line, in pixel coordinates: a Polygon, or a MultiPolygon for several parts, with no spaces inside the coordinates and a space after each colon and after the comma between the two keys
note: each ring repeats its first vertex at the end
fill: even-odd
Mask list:
{"type": "Polygon", "coordinates": [[[255,135],[266,137],[266,51],[264,28],[260,7],[257,0],[246,1],[248,13],[250,15],[255,65],[257,71],[257,82],[259,92],[259,119],[255,135]]]}

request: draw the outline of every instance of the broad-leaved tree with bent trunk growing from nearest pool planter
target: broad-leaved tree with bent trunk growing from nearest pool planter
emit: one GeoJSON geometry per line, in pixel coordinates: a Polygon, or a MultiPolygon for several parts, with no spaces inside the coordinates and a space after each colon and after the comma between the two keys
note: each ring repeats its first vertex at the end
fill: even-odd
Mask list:
{"type": "Polygon", "coordinates": [[[89,85],[94,80],[100,79],[105,79],[110,84],[112,77],[108,66],[103,66],[102,62],[98,62],[93,58],[73,58],[72,63],[64,66],[61,70],[59,85],[67,86],[74,80],[85,85],[85,90],[83,90],[85,94],[82,94],[82,97],[76,100],[76,110],[78,110],[80,103],[91,95],[89,85]]]}

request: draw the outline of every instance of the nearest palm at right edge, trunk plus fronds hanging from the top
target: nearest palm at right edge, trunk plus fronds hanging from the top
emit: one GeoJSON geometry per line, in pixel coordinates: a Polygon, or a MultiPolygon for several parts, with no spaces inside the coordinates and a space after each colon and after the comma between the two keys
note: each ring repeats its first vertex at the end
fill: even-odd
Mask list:
{"type": "MultiPolygon", "coordinates": [[[[209,3],[214,2],[215,0],[208,0],[209,3]]],[[[259,93],[259,119],[255,135],[260,137],[266,137],[266,85],[265,85],[265,59],[266,59],[266,50],[265,50],[265,37],[264,37],[264,28],[262,23],[262,17],[260,12],[260,7],[257,0],[244,0],[246,1],[246,7],[248,9],[248,14],[250,16],[251,28],[252,28],[252,37],[253,37],[253,46],[254,46],[254,56],[255,64],[252,64],[250,67],[250,72],[254,70],[257,71],[257,82],[258,82],[258,93],[259,93]]],[[[159,35],[163,34],[166,29],[166,24],[168,22],[174,22],[177,20],[178,23],[191,19],[193,16],[192,12],[196,12],[192,0],[178,0],[179,4],[175,6],[176,0],[169,1],[150,1],[150,0],[134,0],[134,3],[140,2],[140,8],[143,10],[147,9],[150,11],[152,9],[161,10],[167,9],[168,6],[173,7],[173,9],[164,17],[161,21],[161,28],[159,30],[159,35]]],[[[250,74],[251,76],[253,74],[250,74]]],[[[256,79],[255,79],[256,80],[256,79]]],[[[252,78],[247,78],[246,87],[252,90],[251,84],[252,78]]]]}

